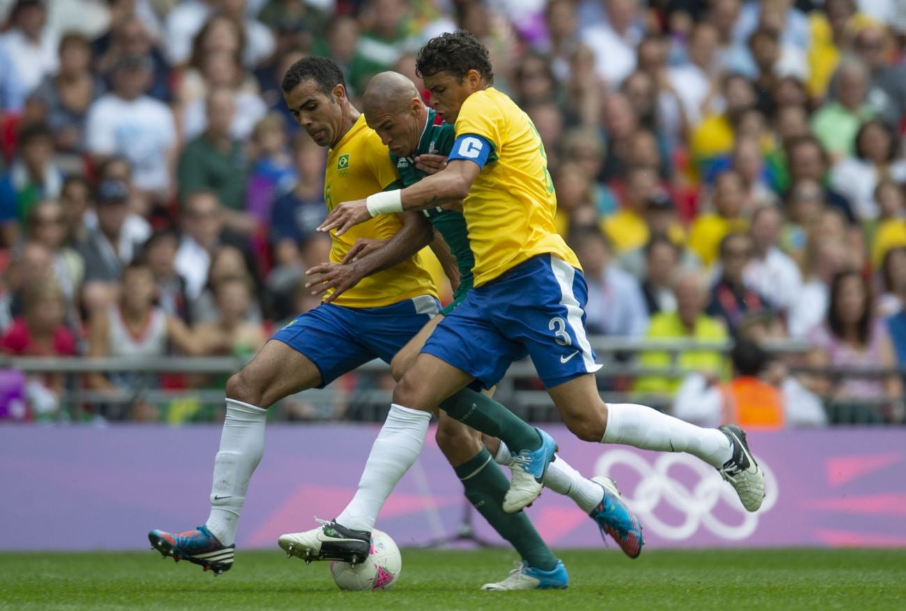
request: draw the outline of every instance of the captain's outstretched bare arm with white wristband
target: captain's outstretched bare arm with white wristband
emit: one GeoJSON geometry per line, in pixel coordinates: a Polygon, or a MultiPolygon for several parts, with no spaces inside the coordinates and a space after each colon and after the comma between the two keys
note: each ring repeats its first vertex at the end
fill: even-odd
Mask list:
{"type": "Polygon", "coordinates": [[[468,189],[475,182],[481,167],[472,161],[454,159],[442,171],[424,177],[412,186],[399,191],[384,191],[366,199],[343,202],[333,208],[330,215],[318,227],[318,231],[336,229],[337,235],[346,233],[352,226],[364,223],[374,215],[390,212],[394,205],[403,210],[427,210],[439,205],[465,199],[468,189]],[[392,200],[397,199],[398,202],[392,200]],[[386,203],[390,203],[387,205],[386,203]],[[371,204],[370,204],[371,203],[371,204]],[[385,207],[387,205],[387,207],[385,207]],[[373,213],[373,214],[372,214],[373,213]]]}

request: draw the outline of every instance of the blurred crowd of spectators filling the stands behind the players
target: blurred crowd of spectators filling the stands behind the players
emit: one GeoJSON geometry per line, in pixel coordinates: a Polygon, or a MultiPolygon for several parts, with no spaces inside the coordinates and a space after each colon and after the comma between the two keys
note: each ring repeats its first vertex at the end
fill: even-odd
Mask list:
{"type": "MultiPolygon", "coordinates": [[[[0,0],[2,349],[254,353],[330,249],[282,74],[319,54],[354,103],[383,70],[420,87],[419,46],[457,28],[544,142],[589,330],[742,346],[634,390],[722,389],[727,413],[720,380],[761,376],[902,419],[901,377],[820,369],[906,365],[904,0],[0,0]],[[809,373],[776,375],[766,339],[809,342],[786,363],[809,373]]],[[[62,383],[30,379],[32,413],[62,383]]]]}

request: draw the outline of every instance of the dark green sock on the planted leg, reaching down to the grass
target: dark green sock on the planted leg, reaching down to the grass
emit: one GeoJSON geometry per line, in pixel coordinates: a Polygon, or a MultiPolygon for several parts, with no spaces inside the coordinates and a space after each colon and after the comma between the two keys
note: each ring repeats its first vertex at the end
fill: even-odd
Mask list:
{"type": "Polygon", "coordinates": [[[475,457],[453,470],[466,489],[468,501],[501,537],[516,548],[530,567],[551,570],[556,566],[557,558],[538,535],[525,511],[506,513],[503,510],[509,481],[487,448],[481,448],[475,457]]]}

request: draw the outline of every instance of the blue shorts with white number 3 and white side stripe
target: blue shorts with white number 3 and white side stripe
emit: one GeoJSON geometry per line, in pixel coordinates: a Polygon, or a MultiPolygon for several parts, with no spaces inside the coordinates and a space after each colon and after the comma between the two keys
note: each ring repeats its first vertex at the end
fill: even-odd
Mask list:
{"type": "Polygon", "coordinates": [[[527,353],[545,387],[555,387],[601,368],[585,336],[587,300],[582,272],[550,254],[537,255],[468,291],[421,351],[486,387],[527,353]]]}

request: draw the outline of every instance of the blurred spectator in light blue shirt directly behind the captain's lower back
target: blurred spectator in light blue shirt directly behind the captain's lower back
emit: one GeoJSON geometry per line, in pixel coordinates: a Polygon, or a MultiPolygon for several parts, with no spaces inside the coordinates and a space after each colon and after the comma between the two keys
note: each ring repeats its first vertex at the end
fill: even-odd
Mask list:
{"type": "Polygon", "coordinates": [[[588,284],[588,332],[633,338],[644,335],[648,330],[648,308],[639,281],[611,264],[607,238],[591,226],[578,230],[570,243],[588,284]]]}

